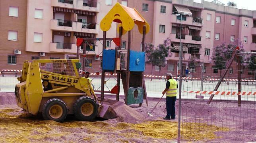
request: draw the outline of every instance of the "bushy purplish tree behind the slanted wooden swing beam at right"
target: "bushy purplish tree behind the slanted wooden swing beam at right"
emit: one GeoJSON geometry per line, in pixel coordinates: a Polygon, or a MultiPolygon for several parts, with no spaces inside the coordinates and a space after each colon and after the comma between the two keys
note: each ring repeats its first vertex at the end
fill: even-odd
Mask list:
{"type": "MultiPolygon", "coordinates": [[[[215,47],[214,54],[211,57],[211,60],[213,61],[213,64],[214,64],[212,68],[220,71],[222,69],[225,69],[227,66],[227,63],[231,59],[232,54],[237,46],[240,48],[240,52],[244,52],[244,45],[239,40],[235,40],[234,42],[229,43],[228,45],[226,45],[225,43],[222,43],[221,45],[218,45],[217,47],[215,47]]],[[[237,58],[235,58],[235,61],[237,61],[237,58]]],[[[245,64],[243,62],[244,56],[240,56],[240,61],[242,65],[245,64]]],[[[220,76],[221,76],[221,72],[220,72],[220,76]]]]}

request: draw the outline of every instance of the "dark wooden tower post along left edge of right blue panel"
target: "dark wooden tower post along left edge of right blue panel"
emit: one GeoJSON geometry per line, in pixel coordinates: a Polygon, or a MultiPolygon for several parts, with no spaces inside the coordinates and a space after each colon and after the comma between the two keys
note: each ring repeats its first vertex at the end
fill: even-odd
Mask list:
{"type": "Polygon", "coordinates": [[[130,48],[131,48],[131,30],[128,31],[128,46],[127,46],[127,64],[126,64],[126,88],[125,88],[125,104],[127,105],[128,89],[130,85],[130,48]]]}

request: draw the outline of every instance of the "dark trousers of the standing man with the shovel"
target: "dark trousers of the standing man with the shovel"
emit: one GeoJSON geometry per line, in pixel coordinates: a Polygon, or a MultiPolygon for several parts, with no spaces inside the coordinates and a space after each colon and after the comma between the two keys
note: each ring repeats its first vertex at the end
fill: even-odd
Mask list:
{"type": "Polygon", "coordinates": [[[170,119],[175,119],[175,102],[176,102],[176,96],[174,97],[166,97],[166,110],[167,110],[167,115],[166,118],[170,119]]]}

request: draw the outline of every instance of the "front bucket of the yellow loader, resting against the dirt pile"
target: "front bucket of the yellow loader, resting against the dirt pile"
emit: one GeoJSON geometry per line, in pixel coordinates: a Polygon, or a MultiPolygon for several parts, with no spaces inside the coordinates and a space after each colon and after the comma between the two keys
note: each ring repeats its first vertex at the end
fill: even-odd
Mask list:
{"type": "Polygon", "coordinates": [[[98,117],[103,119],[115,119],[118,117],[113,107],[109,103],[110,100],[104,100],[101,106],[99,107],[98,117]]]}

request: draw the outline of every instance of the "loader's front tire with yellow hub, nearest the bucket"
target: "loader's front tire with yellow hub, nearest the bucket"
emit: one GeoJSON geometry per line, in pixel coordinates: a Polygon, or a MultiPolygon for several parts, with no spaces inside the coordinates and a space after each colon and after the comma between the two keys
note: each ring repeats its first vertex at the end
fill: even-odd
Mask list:
{"type": "Polygon", "coordinates": [[[90,97],[82,96],[73,105],[74,115],[78,120],[91,121],[98,113],[99,105],[90,97]]]}

